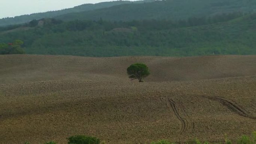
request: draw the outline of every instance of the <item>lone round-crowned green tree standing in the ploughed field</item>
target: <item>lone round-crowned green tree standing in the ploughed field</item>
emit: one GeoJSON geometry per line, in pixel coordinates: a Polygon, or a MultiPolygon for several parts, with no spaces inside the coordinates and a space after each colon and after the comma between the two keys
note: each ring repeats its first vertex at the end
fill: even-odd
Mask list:
{"type": "Polygon", "coordinates": [[[139,82],[143,82],[142,78],[148,76],[149,68],[145,64],[136,63],[127,68],[127,74],[131,79],[138,79],[139,82]]]}

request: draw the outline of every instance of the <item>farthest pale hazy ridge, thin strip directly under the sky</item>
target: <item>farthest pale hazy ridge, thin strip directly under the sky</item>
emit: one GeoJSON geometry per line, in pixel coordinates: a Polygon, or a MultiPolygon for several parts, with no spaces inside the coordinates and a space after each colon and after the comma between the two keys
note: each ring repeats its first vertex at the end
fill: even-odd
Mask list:
{"type": "Polygon", "coordinates": [[[0,19],[0,26],[22,24],[25,22],[29,22],[33,19],[52,18],[55,16],[64,15],[67,13],[87,12],[89,10],[101,9],[101,8],[116,6],[120,4],[145,3],[145,2],[151,2],[151,1],[154,1],[154,0],[144,0],[144,1],[121,1],[120,0],[120,1],[102,2],[97,4],[83,4],[70,9],[43,12],[43,13],[33,13],[31,15],[15,16],[14,18],[2,18],[0,19]]]}

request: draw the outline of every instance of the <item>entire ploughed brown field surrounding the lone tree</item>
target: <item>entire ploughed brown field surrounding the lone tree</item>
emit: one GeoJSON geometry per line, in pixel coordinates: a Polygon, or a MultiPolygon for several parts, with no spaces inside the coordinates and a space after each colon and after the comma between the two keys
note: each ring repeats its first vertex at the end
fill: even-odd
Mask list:
{"type": "Polygon", "coordinates": [[[256,55],[0,56],[0,144],[223,141],[255,130],[256,55]],[[135,62],[151,70],[144,83],[128,79],[135,62]]]}

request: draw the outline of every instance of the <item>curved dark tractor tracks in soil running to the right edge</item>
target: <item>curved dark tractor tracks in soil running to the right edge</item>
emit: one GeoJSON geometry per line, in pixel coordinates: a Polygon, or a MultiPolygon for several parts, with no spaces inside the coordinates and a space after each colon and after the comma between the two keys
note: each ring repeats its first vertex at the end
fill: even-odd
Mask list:
{"type": "Polygon", "coordinates": [[[250,114],[248,114],[248,112],[244,108],[242,108],[238,104],[235,104],[235,102],[232,102],[226,98],[223,98],[220,96],[203,96],[203,97],[219,102],[220,104],[226,106],[229,110],[234,111],[240,116],[244,116],[244,117],[256,120],[255,116],[250,116],[250,114]]]}

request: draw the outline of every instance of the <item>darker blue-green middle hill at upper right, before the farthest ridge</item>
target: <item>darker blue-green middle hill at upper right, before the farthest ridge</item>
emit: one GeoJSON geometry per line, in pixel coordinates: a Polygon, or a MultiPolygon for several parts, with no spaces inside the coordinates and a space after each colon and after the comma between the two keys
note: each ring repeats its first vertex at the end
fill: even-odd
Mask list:
{"type": "Polygon", "coordinates": [[[153,3],[122,4],[89,12],[69,13],[57,19],[131,21],[141,19],[179,20],[220,13],[255,12],[255,0],[160,0],[153,3]]]}

